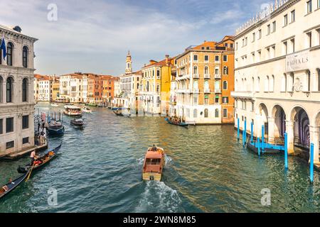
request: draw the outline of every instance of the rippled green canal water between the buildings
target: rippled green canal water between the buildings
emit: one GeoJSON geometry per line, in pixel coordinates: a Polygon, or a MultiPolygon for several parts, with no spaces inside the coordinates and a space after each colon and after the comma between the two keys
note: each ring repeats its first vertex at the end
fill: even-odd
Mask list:
{"type": "MultiPolygon", "coordinates": [[[[36,105],[36,112],[62,109],[36,105]]],[[[84,114],[80,131],[64,116],[59,156],[34,172],[28,182],[0,201],[0,212],[319,212],[319,173],[309,184],[308,165],[282,155],[257,157],[242,148],[233,126],[167,124],[163,118],[115,116],[110,109],[84,114]],[[162,182],[142,181],[146,149],[156,144],[166,152],[162,182]],[[58,192],[58,205],[48,205],[48,190],[58,192]],[[270,189],[271,205],[262,206],[270,189]]],[[[28,157],[0,162],[0,183],[18,177],[16,167],[28,157]]]]}

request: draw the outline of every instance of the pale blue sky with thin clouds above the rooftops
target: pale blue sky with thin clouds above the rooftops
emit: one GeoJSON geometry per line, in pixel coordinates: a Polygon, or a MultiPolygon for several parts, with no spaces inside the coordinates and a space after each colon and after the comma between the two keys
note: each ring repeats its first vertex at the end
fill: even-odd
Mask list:
{"type": "Polygon", "coordinates": [[[0,0],[0,24],[20,26],[35,43],[38,74],[124,73],[220,41],[270,0],[0,0]],[[52,5],[54,4],[54,5],[52,5]],[[55,11],[56,9],[56,11],[55,11]],[[49,18],[49,19],[48,19],[49,18]]]}

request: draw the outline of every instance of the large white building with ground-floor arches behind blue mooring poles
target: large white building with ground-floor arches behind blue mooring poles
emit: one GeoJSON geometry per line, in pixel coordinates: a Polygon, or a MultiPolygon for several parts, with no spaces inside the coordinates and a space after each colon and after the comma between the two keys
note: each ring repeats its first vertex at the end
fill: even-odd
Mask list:
{"type": "Polygon", "coordinates": [[[238,29],[235,37],[235,127],[262,125],[269,143],[289,153],[309,150],[319,163],[320,1],[275,1],[238,29]]]}

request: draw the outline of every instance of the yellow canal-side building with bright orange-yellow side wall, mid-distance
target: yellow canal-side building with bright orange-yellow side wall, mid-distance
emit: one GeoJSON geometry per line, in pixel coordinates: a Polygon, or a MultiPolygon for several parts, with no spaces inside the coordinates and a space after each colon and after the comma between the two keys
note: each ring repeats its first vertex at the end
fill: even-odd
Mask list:
{"type": "Polygon", "coordinates": [[[150,60],[142,68],[140,104],[145,114],[169,114],[171,75],[175,72],[174,58],[166,55],[164,60],[150,60]]]}

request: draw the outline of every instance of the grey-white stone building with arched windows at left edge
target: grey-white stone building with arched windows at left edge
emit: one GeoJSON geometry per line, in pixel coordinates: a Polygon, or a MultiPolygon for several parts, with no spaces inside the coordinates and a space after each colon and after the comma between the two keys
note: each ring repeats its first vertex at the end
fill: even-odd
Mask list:
{"type": "Polygon", "coordinates": [[[0,61],[0,156],[34,146],[33,43],[21,28],[0,26],[6,59],[0,61]]]}

